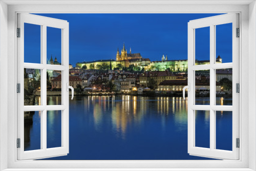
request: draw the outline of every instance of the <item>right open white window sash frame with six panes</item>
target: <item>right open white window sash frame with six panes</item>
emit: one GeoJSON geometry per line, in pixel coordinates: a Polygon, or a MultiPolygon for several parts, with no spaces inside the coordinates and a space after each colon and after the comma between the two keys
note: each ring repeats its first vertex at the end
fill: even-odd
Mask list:
{"type": "Polygon", "coordinates": [[[188,153],[195,156],[211,156],[216,159],[239,159],[239,148],[236,138],[239,138],[239,94],[236,93],[236,83],[239,83],[239,39],[236,31],[239,28],[239,14],[230,13],[202,19],[190,20],[188,23],[188,153]],[[232,62],[216,63],[216,26],[232,24],[232,62]],[[209,65],[196,65],[196,29],[209,27],[209,65]],[[232,105],[216,105],[216,70],[232,68],[232,105]],[[210,71],[210,103],[197,105],[195,94],[195,72],[210,71]],[[195,111],[209,111],[209,148],[196,146],[195,111]],[[216,148],[216,111],[232,112],[232,150],[216,148]]]}

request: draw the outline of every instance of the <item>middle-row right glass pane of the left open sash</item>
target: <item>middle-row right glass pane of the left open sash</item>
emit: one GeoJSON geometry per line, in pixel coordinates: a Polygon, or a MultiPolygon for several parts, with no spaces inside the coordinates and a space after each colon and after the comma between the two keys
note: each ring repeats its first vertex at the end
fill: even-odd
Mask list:
{"type": "Polygon", "coordinates": [[[47,70],[47,105],[61,105],[61,71],[47,70]]]}

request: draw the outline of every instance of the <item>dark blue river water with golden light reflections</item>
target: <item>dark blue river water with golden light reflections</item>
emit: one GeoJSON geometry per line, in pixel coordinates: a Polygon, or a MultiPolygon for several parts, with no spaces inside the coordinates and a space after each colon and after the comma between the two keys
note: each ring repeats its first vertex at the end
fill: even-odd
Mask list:
{"type": "MultiPolygon", "coordinates": [[[[197,100],[209,101],[207,97],[197,100]]],[[[217,98],[217,104],[228,105],[230,98],[217,98]]],[[[209,112],[195,111],[195,115],[196,146],[209,147],[209,112]]],[[[40,126],[36,125],[40,117],[33,117],[26,150],[40,148],[40,126]]],[[[48,112],[47,117],[47,146],[59,146],[61,112],[48,112]]],[[[232,150],[232,112],[216,112],[216,137],[218,149],[232,150]]],[[[187,153],[187,100],[118,95],[70,100],[70,153],[47,160],[198,159],[208,158],[187,153]]]]}

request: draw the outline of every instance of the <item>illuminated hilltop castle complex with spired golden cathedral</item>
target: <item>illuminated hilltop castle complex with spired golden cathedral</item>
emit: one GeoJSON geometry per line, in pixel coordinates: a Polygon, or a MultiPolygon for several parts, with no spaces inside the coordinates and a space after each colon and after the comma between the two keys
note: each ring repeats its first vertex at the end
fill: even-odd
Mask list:
{"type": "MultiPolygon", "coordinates": [[[[196,60],[196,65],[208,65],[209,63],[209,60],[196,60]]],[[[222,63],[222,58],[220,56],[217,57],[216,63],[222,63]]],[[[135,67],[140,67],[141,69],[144,68],[145,71],[187,71],[187,59],[168,60],[167,55],[163,55],[161,57],[161,60],[151,61],[149,58],[143,58],[140,53],[132,53],[131,48],[130,53],[127,53],[124,44],[123,48],[121,49],[121,54],[119,53],[119,49],[117,48],[116,60],[95,60],[76,63],[76,67],[82,68],[83,66],[86,66],[87,70],[98,70],[102,65],[109,66],[108,69],[110,70],[118,68],[120,66],[128,68],[130,65],[134,65],[135,67]]]]}

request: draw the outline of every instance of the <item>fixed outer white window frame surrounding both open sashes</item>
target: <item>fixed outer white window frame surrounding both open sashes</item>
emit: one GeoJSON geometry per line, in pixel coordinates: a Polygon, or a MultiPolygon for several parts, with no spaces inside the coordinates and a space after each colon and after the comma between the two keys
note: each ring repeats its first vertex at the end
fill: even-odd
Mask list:
{"type": "Polygon", "coordinates": [[[93,170],[92,168],[99,168],[97,170],[127,170],[127,168],[130,168],[129,170],[177,170],[178,168],[179,170],[256,170],[256,9],[254,1],[189,1],[189,3],[187,1],[1,1],[0,3],[1,170],[7,168],[7,170],[22,170],[21,168],[23,170],[24,168],[25,170],[29,170],[28,168],[31,168],[31,170],[39,170],[39,168],[45,168],[44,170],[54,170],[54,168],[55,170],[57,168],[60,168],[59,170],[63,168],[66,168],[65,170],[74,170],[75,168],[84,168],[81,170],[93,170]],[[66,3],[66,5],[63,3],[66,3]],[[15,131],[17,120],[15,101],[17,53],[15,29],[18,12],[240,13],[240,160],[17,161],[15,131]],[[6,60],[7,56],[8,60],[6,60]],[[6,85],[3,82],[8,83],[6,85]],[[8,97],[8,100],[6,100],[6,97],[8,97]]]}

